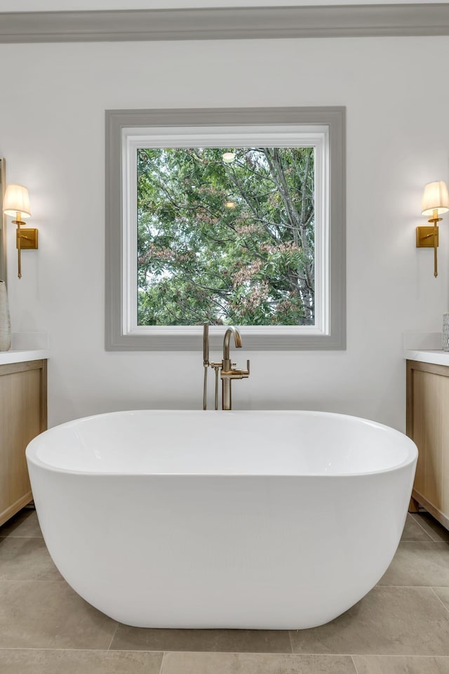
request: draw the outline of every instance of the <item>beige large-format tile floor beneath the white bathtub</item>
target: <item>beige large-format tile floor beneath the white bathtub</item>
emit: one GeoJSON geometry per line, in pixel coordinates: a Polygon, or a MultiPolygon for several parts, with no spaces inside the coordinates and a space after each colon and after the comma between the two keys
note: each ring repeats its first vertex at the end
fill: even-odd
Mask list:
{"type": "Polygon", "coordinates": [[[449,532],[408,515],[378,585],[310,630],[151,630],[69,588],[34,510],[0,527],[1,674],[449,674],[449,532]]]}

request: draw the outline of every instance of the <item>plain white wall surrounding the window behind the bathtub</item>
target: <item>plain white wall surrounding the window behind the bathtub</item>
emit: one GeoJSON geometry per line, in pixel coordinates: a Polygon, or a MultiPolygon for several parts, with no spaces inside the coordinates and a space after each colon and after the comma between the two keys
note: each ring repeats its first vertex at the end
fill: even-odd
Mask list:
{"type": "MultiPolygon", "coordinates": [[[[29,187],[39,251],[15,276],[14,332],[48,331],[49,423],[112,409],[201,407],[202,350],[105,352],[104,111],[347,106],[347,350],[248,353],[234,407],[342,411],[405,425],[405,330],[439,331],[440,273],[415,248],[424,183],[448,178],[449,39],[3,45],[0,153],[29,187]]],[[[212,385],[212,376],[210,377],[212,385]]]]}

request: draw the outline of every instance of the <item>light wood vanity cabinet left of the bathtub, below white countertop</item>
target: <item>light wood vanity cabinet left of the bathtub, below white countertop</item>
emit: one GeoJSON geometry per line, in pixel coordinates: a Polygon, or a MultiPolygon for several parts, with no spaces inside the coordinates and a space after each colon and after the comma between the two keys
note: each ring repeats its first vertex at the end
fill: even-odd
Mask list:
{"type": "Polygon", "coordinates": [[[25,449],[47,428],[47,361],[0,365],[0,525],[32,501],[25,449]]]}

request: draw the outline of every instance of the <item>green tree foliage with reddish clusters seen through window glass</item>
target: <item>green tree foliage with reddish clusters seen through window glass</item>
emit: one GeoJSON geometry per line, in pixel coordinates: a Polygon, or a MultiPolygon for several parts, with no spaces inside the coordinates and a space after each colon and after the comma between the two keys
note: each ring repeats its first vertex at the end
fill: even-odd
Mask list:
{"type": "Polygon", "coordinates": [[[138,325],[314,325],[313,147],[137,161],[138,325]]]}

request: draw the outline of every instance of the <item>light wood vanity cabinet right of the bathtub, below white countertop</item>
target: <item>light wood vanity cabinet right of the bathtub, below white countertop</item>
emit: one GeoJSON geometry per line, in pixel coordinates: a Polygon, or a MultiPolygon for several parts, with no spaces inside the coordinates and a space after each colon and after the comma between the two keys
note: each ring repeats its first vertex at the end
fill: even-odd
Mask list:
{"type": "Polygon", "coordinates": [[[407,361],[407,435],[419,451],[412,505],[449,529],[449,366],[407,361]]]}

